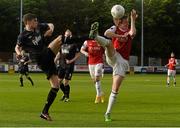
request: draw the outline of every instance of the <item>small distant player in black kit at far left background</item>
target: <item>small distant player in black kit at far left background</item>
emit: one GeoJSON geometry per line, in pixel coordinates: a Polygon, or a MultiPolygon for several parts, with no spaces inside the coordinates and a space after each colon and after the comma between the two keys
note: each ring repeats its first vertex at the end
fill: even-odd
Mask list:
{"type": "Polygon", "coordinates": [[[20,73],[19,80],[20,80],[20,83],[21,83],[20,87],[24,86],[24,84],[23,84],[23,76],[24,75],[31,82],[31,85],[33,86],[34,83],[33,83],[32,79],[31,79],[31,77],[29,76],[29,69],[28,69],[28,64],[31,62],[31,60],[29,59],[29,56],[25,55],[24,50],[21,51],[21,55],[22,55],[21,59],[18,60],[19,61],[19,63],[18,63],[18,65],[19,65],[18,71],[20,73]]]}

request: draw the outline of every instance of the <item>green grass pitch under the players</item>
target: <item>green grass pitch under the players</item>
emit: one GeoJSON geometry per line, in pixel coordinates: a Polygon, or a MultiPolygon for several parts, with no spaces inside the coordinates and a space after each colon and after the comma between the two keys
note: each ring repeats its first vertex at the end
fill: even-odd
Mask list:
{"type": "Polygon", "coordinates": [[[50,108],[52,122],[39,118],[50,86],[44,74],[31,74],[35,86],[18,74],[0,74],[0,126],[4,127],[153,127],[180,126],[180,75],[177,87],[166,87],[166,75],[127,75],[112,111],[112,122],[104,122],[111,91],[111,74],[104,76],[104,104],[94,104],[95,88],[89,74],[74,74],[71,101],[50,108]]]}

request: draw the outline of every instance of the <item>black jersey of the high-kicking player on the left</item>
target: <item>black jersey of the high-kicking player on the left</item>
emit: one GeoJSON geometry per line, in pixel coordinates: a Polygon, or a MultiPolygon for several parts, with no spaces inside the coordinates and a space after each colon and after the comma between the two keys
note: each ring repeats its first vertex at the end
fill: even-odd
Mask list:
{"type": "Polygon", "coordinates": [[[34,31],[24,30],[17,39],[17,45],[22,47],[30,54],[33,53],[35,58],[42,52],[46,46],[44,43],[44,33],[49,29],[48,24],[39,23],[34,31]]]}

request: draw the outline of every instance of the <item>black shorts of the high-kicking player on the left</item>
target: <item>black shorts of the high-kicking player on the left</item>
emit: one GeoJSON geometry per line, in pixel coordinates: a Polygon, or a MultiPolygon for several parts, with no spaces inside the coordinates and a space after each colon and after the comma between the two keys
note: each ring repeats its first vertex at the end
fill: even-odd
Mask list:
{"type": "Polygon", "coordinates": [[[54,63],[55,54],[50,48],[46,48],[37,58],[39,68],[46,74],[47,79],[52,75],[57,75],[56,65],[54,63]]]}

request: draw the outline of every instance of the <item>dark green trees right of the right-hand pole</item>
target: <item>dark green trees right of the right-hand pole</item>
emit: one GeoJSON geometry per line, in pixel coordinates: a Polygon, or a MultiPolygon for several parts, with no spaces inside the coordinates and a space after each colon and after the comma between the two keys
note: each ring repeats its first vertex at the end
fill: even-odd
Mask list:
{"type": "Polygon", "coordinates": [[[166,57],[171,51],[180,55],[177,47],[179,26],[176,0],[144,1],[145,54],[166,57]]]}

